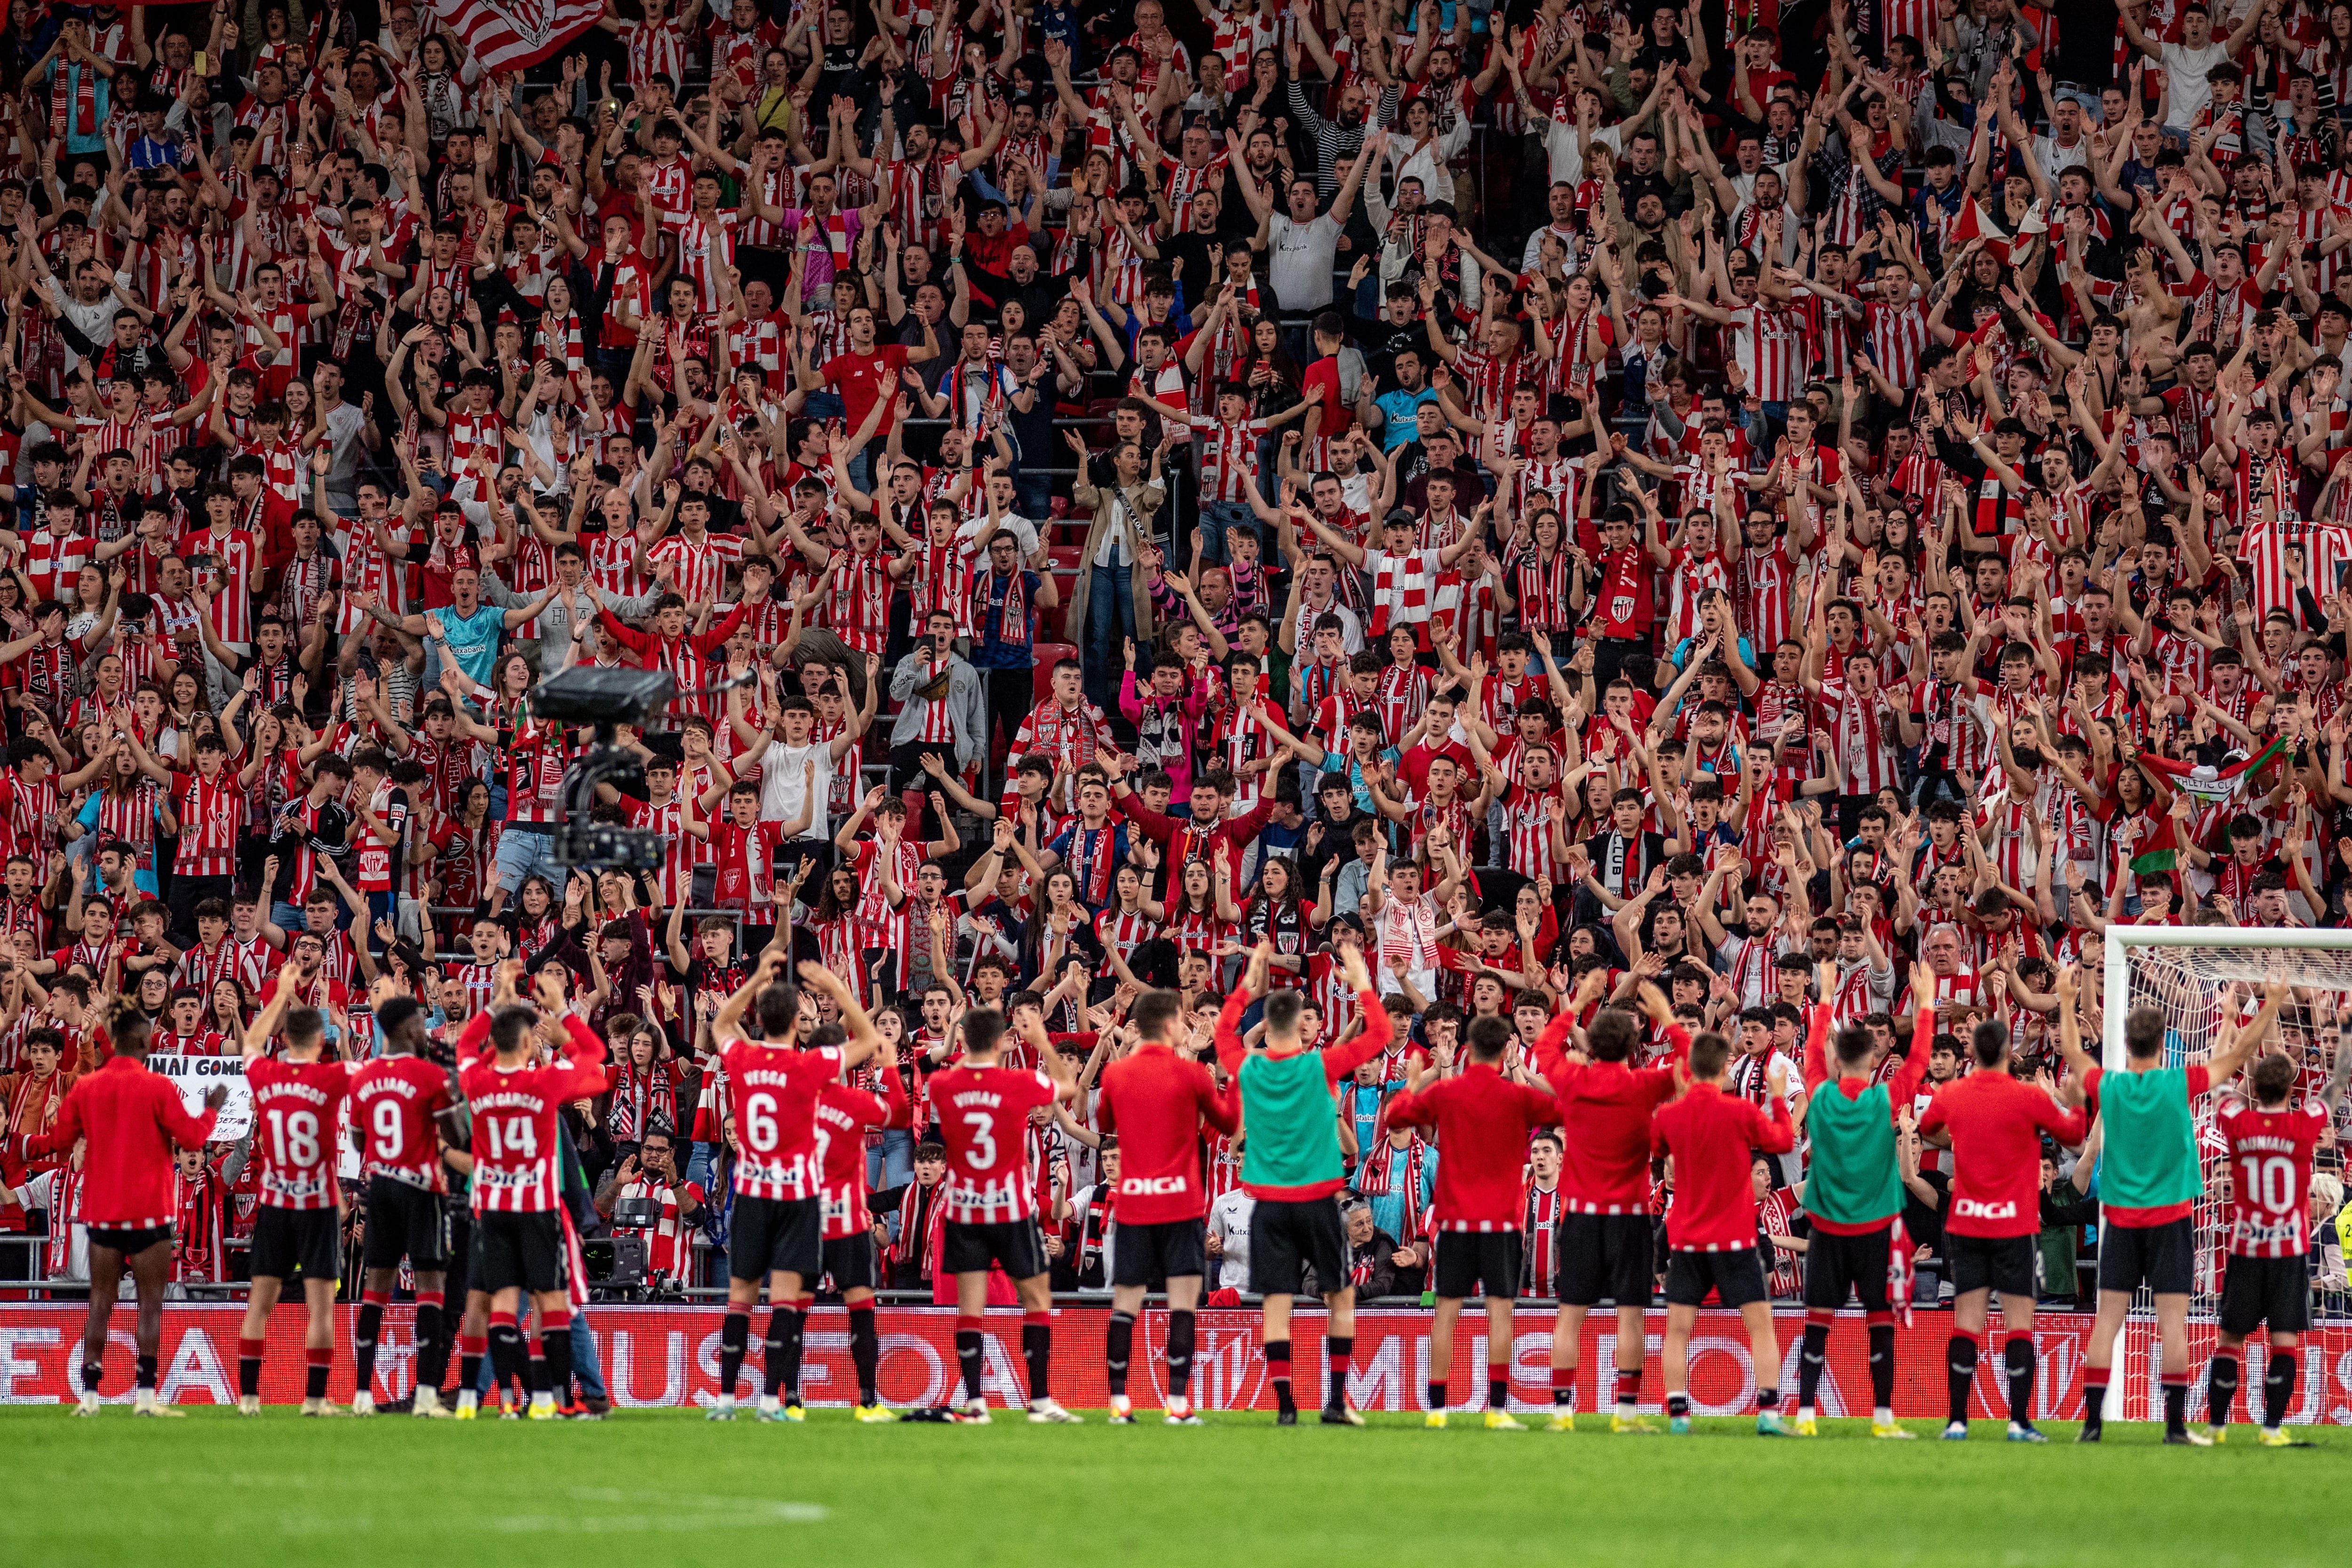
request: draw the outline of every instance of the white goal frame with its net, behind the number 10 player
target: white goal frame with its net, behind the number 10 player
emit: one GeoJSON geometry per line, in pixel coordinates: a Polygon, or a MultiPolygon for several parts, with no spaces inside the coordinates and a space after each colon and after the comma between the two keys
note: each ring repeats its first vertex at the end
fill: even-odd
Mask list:
{"type": "MultiPolygon", "coordinates": [[[[2124,1016],[2133,1006],[2164,1009],[2164,1063],[2187,1067],[2213,1051],[2225,987],[2234,983],[2251,992],[2270,980],[2317,992],[2291,999],[2279,1011],[2277,1039],[2303,1063],[2305,1077],[2328,1067],[2324,1025],[2347,1006],[2338,999],[2352,999],[2352,929],[2107,926],[2103,950],[2098,1056],[2110,1072],[2124,1067],[2124,1016]]],[[[2197,1105],[2194,1126],[2206,1190],[2197,1199],[2197,1272],[2190,1309],[2211,1312],[2220,1293],[2220,1227],[2227,1211],[2225,1187],[2218,1182],[2230,1180],[2227,1164],[2218,1159],[2211,1098],[2197,1105]]],[[[2107,1420],[2122,1420],[2129,1382],[2124,1331],[2114,1335],[2112,1366],[2117,1375],[2107,1385],[2103,1413],[2107,1420]]]]}

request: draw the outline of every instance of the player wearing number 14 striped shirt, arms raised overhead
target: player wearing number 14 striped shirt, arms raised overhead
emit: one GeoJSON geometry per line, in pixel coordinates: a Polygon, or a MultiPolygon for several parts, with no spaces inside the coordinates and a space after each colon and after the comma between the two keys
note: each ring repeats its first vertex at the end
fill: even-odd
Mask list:
{"type": "MultiPolygon", "coordinates": [[[[489,1011],[475,1013],[459,1041],[459,1091],[473,1117],[473,1241],[466,1267],[468,1286],[489,1293],[489,1356],[499,1382],[524,1378],[529,1418],[555,1420],[555,1389],[572,1385],[569,1248],[555,1119],[569,1100],[604,1093],[604,1041],[564,1009],[562,980],[550,973],[536,978],[536,1011],[517,1004],[520,971],[515,959],[499,964],[489,1011]],[[562,1020],[564,1048],[553,1063],[543,1060],[536,1039],[543,1018],[562,1020]],[[524,1291],[539,1307],[546,1361],[522,1347],[524,1291]]],[[[473,1382],[459,1389],[456,1418],[475,1418],[473,1382]]]]}

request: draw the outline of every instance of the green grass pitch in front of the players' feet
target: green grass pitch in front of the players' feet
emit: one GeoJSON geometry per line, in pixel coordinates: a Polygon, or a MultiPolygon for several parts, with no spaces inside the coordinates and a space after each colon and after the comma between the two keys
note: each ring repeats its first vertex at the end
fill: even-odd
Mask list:
{"type": "Polygon", "coordinates": [[[193,1408],[0,1408],[0,1563],[249,1568],[308,1561],[727,1563],[2117,1563],[2291,1568],[2345,1561],[2352,1432],[2218,1450],[2112,1427],[2049,1448],[1978,1422],[1969,1446],[1486,1432],[1456,1413],[1364,1432],[1207,1427],[804,1427],[699,1413],[607,1422],[259,1420],[193,1408]],[[887,1554],[887,1556],[882,1556],[887,1554]],[[917,1556],[920,1554],[920,1556],[917,1556]]]}

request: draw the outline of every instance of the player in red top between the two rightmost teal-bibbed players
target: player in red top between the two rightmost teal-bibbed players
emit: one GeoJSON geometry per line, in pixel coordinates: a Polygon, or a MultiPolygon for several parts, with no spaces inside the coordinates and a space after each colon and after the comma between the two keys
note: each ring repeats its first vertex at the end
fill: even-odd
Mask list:
{"type": "MultiPolygon", "coordinates": [[[[2060,971],[2065,973],[2065,971],[2060,971]]],[[[2063,1011],[2063,1009],[2060,1009],[2063,1011]]],[[[1976,1387],[1976,1342],[1985,1333],[1992,1293],[2002,1293],[2009,1331],[2009,1441],[2046,1443],[2034,1427],[2034,1237],[2042,1232],[2042,1133],[2058,1143],[2084,1140],[2082,1081],[2067,1079],[2067,1105],[2009,1077],[2009,1025],[1987,1018],[1969,1039],[1976,1072],[1945,1084],[1919,1135],[1952,1150],[1952,1208],[1943,1222],[1952,1260],[1952,1340],[1945,1373],[1952,1394],[1947,1443],[1969,1436],[1969,1389],[1976,1387]],[[1938,1138],[1938,1133],[1943,1138],[1938,1138]]]]}

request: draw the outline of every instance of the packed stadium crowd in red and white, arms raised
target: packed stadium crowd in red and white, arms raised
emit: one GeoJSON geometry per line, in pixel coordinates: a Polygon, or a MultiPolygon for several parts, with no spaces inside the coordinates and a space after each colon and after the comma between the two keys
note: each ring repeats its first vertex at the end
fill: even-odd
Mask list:
{"type": "MultiPolygon", "coordinates": [[[[1938,1305],[1978,1025],[2056,1093],[2110,926],[2345,924],[2352,7],[1195,5],[637,0],[506,75],[405,0],[12,12],[0,1227],[49,1244],[0,1272],[87,1269],[31,1147],[111,1009],[235,1056],[292,994],[367,1058],[520,959],[612,1048],[583,1229],[649,1199],[644,1288],[724,1284],[713,1020],[776,945],[896,1044],[882,1284],[946,1300],[927,1084],[1000,1009],[1077,1067],[1028,1180],[1108,1291],[1096,1079],[1155,987],[1214,1063],[1265,940],[1310,1041],[1350,952],[1392,1030],[1334,1105],[1359,1295],[1432,1288],[1390,1103],[1653,985],[1797,1128],[1776,1298],[1806,1009],[1867,1032],[1938,1305]],[[600,806],[659,870],[555,860],[574,663],[677,677],[600,806]]],[[[2331,1023],[2284,1004],[2300,1098],[2331,1023]]],[[[181,1157],[183,1281],[245,1276],[256,1180],[181,1157]]]]}

